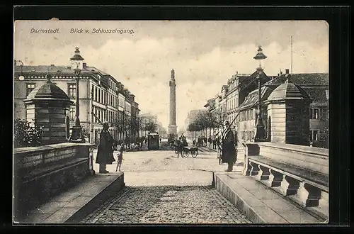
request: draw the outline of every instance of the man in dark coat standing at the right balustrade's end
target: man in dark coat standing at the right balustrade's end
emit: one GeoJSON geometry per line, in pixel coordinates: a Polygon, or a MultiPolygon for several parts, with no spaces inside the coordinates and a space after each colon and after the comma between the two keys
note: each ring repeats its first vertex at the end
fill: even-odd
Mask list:
{"type": "Polygon", "coordinates": [[[225,121],[225,133],[222,140],[222,163],[227,162],[228,167],[225,172],[232,172],[236,155],[236,147],[234,145],[234,133],[230,129],[229,121],[225,121]]]}

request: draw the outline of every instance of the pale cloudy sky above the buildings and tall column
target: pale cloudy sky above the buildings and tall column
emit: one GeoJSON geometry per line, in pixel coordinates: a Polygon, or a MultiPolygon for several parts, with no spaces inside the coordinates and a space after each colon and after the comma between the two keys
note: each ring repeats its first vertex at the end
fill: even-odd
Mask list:
{"type": "Polygon", "coordinates": [[[233,74],[251,74],[258,45],[264,72],[329,72],[326,21],[16,21],[14,57],[24,65],[69,66],[80,48],[88,66],[107,72],[135,94],[141,113],[169,125],[169,79],[176,79],[176,123],[200,109],[233,74]],[[72,29],[83,33],[72,33],[72,29]],[[126,33],[93,33],[94,29],[126,33]],[[59,33],[31,33],[59,29],[59,33]],[[89,33],[86,33],[86,30],[89,33]],[[131,32],[131,33],[129,33],[131,32]]]}

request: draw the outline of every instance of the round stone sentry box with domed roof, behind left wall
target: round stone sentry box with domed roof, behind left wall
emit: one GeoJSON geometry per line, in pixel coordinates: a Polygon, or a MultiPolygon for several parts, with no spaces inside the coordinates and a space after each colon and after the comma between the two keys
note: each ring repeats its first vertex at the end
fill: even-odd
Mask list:
{"type": "Polygon", "coordinates": [[[33,126],[42,126],[42,145],[67,142],[65,118],[72,101],[52,84],[50,75],[47,75],[47,83],[34,89],[23,102],[27,121],[33,126]]]}

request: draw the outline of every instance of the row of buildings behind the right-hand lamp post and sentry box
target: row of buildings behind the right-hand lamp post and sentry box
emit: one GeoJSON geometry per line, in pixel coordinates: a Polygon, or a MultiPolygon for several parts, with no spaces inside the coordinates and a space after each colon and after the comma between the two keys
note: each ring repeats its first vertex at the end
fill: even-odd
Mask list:
{"type": "MultiPolygon", "coordinates": [[[[267,105],[263,101],[268,99],[274,89],[285,82],[285,76],[288,73],[289,69],[285,69],[285,74],[280,72],[275,77],[268,77],[264,73],[261,76],[261,113],[265,127],[265,138],[268,138],[270,123],[268,123],[267,105]]],[[[309,109],[309,141],[314,146],[326,147],[329,128],[329,74],[291,74],[291,80],[304,89],[312,99],[309,109]]],[[[208,100],[205,107],[207,111],[215,113],[220,123],[224,120],[232,123],[236,117],[232,129],[237,132],[239,143],[251,142],[254,140],[258,114],[256,73],[249,76],[236,73],[227,84],[228,87],[223,86],[221,94],[217,94],[215,99],[212,99],[214,101],[208,100]],[[227,108],[226,117],[224,108],[227,108]]],[[[239,144],[239,148],[241,148],[241,144],[239,144]]]]}

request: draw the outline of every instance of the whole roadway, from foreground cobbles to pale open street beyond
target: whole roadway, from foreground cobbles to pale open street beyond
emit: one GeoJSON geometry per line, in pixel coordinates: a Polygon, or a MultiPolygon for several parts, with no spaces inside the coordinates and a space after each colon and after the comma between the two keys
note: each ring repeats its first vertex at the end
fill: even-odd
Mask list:
{"type": "MultiPolygon", "coordinates": [[[[177,158],[162,148],[125,152],[125,189],[82,223],[251,223],[211,186],[212,171],[227,167],[219,165],[216,152],[204,148],[196,158],[177,158]]],[[[114,173],[115,167],[107,168],[114,173]]]]}

